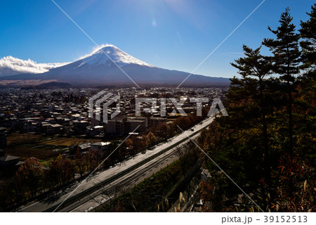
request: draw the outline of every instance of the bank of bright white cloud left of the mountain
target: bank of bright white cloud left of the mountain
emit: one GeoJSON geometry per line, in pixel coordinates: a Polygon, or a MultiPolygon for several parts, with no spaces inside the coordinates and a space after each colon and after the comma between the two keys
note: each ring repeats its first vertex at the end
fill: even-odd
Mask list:
{"type": "Polygon", "coordinates": [[[22,60],[7,56],[0,59],[0,77],[20,75],[22,73],[38,74],[48,72],[68,63],[36,63],[33,60],[22,60]]]}

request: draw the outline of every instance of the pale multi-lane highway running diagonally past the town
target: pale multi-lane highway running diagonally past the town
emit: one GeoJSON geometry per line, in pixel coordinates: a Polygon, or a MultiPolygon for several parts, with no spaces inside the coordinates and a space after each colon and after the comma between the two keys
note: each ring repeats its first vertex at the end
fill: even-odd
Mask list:
{"type": "Polygon", "coordinates": [[[89,177],[89,179],[84,181],[82,184],[82,181],[80,181],[80,183],[77,182],[70,188],[67,188],[64,192],[60,192],[39,202],[29,203],[20,207],[17,211],[53,212],[55,208],[58,207],[58,205],[60,205],[60,203],[62,203],[67,196],[75,190],[71,197],[58,207],[56,212],[89,212],[98,207],[100,203],[105,203],[105,201],[109,198],[115,197],[115,194],[119,195],[123,191],[128,191],[147,177],[158,172],[161,168],[171,164],[173,160],[177,160],[177,147],[183,148],[184,145],[190,141],[187,140],[187,135],[192,135],[192,139],[196,139],[199,136],[199,130],[209,126],[213,120],[213,117],[206,118],[203,122],[195,125],[195,127],[185,131],[185,134],[178,134],[164,143],[159,143],[157,146],[152,148],[152,150],[146,150],[146,153],[139,153],[133,158],[126,160],[119,165],[115,165],[110,169],[106,169],[102,172],[96,172],[96,174],[93,174],[93,176],[89,177]],[[171,146],[174,147],[171,148],[171,146]],[[167,148],[171,149],[166,150],[167,148]],[[164,152],[164,150],[166,152],[164,152]],[[133,167],[136,168],[126,172],[126,169],[133,167]],[[112,179],[113,177],[115,177],[115,179],[112,179]],[[100,186],[101,182],[105,182],[107,180],[109,180],[109,182],[100,186]],[[79,184],[81,184],[81,186],[77,188],[79,184]],[[100,187],[98,187],[98,184],[100,187]],[[98,188],[90,192],[91,188],[94,187],[98,188]],[[87,194],[83,195],[83,193],[87,194]],[[106,193],[106,195],[103,193],[106,193]]]}

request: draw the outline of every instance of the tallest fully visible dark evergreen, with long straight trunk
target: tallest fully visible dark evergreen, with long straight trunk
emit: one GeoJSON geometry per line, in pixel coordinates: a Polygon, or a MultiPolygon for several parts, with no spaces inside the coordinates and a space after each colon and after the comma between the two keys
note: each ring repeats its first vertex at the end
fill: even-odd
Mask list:
{"type": "Polygon", "coordinates": [[[299,50],[298,41],[300,35],[296,33],[296,26],[291,23],[293,18],[286,8],[279,20],[277,30],[268,29],[276,35],[276,39],[264,39],[263,45],[267,46],[273,53],[273,69],[280,75],[282,82],[287,84],[287,114],[289,120],[289,144],[288,151],[292,155],[294,151],[293,139],[293,96],[294,82],[300,72],[299,63],[301,51],[299,50]]]}

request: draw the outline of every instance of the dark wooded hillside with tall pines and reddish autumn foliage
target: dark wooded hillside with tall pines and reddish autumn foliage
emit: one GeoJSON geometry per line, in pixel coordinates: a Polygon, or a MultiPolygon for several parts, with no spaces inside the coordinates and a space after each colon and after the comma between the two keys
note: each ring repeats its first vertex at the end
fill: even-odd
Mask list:
{"type": "Polygon", "coordinates": [[[315,211],[316,4],[308,15],[294,25],[287,8],[268,27],[274,38],[243,46],[231,63],[242,79],[231,79],[229,117],[203,131],[199,145],[253,201],[207,161],[204,211],[315,211]]]}

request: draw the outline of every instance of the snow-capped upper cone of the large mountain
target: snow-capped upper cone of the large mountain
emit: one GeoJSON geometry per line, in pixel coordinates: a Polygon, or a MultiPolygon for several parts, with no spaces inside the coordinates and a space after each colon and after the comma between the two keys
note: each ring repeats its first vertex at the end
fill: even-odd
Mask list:
{"type": "Polygon", "coordinates": [[[129,64],[153,67],[152,65],[145,63],[137,58],[134,58],[124,51],[121,51],[121,49],[117,48],[117,46],[106,44],[104,46],[101,46],[100,49],[97,49],[93,53],[84,56],[84,58],[81,58],[81,63],[78,68],[84,65],[88,67],[95,65],[111,65],[112,61],[114,61],[120,67],[129,64]]]}

